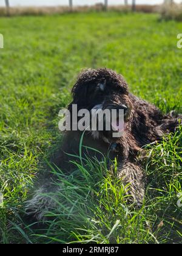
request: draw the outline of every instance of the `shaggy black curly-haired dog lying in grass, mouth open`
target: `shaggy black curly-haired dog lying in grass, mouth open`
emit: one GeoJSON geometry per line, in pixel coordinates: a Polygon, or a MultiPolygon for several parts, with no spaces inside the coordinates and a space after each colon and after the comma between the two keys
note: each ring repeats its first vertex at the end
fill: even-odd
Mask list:
{"type": "MultiPolygon", "coordinates": [[[[123,109],[124,133],[120,138],[113,138],[112,132],[86,131],[83,145],[95,148],[104,155],[110,151],[110,159],[117,158],[118,177],[123,183],[130,183],[130,194],[134,201],[141,202],[144,197],[143,169],[136,161],[143,146],[160,140],[165,133],[175,132],[180,123],[181,115],[174,112],[163,115],[155,105],[137,98],[129,92],[123,76],[106,68],[86,69],[79,74],[72,89],[73,101],[68,109],[72,112],[72,105],[77,104],[78,110],[86,108],[91,112],[93,108],[123,109]]],[[[54,158],[59,168],[70,172],[73,160],[70,154],[79,154],[79,141],[83,132],[69,131],[64,135],[61,149],[54,158]],[[68,153],[68,154],[66,154],[68,153]]],[[[83,155],[98,157],[96,151],[84,149],[83,155]]],[[[75,159],[74,159],[75,160],[75,159]]],[[[42,185],[34,196],[27,202],[27,213],[36,219],[42,219],[45,211],[55,204],[53,198],[44,193],[54,192],[58,188],[52,185],[53,177],[45,175],[42,185]]]]}

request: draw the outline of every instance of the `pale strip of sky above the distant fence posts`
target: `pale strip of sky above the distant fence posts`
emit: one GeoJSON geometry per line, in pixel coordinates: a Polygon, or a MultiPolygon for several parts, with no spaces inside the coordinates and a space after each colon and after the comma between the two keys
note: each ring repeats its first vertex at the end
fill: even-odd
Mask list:
{"type": "MultiPolygon", "coordinates": [[[[4,0],[0,0],[0,5],[4,5],[4,0]]],[[[69,0],[9,0],[12,6],[49,6],[49,5],[67,5],[69,0]]],[[[104,0],[73,0],[75,5],[92,5],[98,2],[104,2],[104,0]]],[[[109,4],[123,4],[124,0],[108,0],[109,4]]],[[[128,0],[132,2],[132,0],[128,0]]],[[[163,0],[136,0],[136,4],[161,4],[163,0]]],[[[176,0],[181,2],[181,0],[176,0]]]]}

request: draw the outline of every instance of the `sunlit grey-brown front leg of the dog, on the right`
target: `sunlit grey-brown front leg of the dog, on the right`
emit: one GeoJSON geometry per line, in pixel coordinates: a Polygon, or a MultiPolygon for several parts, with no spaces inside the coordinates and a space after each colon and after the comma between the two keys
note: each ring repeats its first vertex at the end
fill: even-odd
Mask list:
{"type": "Polygon", "coordinates": [[[124,185],[129,184],[127,194],[132,196],[132,201],[141,204],[144,199],[144,174],[140,166],[124,162],[118,166],[118,177],[122,179],[124,185]]]}

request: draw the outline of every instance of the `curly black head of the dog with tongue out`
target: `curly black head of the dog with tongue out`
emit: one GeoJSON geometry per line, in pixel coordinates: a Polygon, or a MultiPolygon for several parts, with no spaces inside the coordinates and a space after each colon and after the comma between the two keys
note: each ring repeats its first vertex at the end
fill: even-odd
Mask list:
{"type": "MultiPolygon", "coordinates": [[[[129,99],[129,89],[123,76],[115,73],[111,69],[86,69],[79,74],[76,84],[72,89],[73,102],[69,105],[69,110],[73,104],[77,105],[78,111],[87,109],[92,112],[96,110],[123,110],[124,123],[130,119],[132,102],[129,99]]],[[[116,121],[117,123],[117,121],[116,121]]],[[[103,137],[109,141],[112,138],[111,131],[92,132],[95,138],[103,137]]],[[[114,129],[115,130],[115,129],[114,129]]]]}

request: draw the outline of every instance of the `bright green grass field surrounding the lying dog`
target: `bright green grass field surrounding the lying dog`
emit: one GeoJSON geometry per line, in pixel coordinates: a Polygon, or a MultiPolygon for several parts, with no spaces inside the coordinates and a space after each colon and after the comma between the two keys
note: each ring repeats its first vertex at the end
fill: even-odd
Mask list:
{"type": "Polygon", "coordinates": [[[155,14],[0,18],[1,243],[181,243],[181,129],[147,147],[141,208],[126,204],[123,187],[104,163],[88,162],[67,179],[56,171],[65,189],[44,230],[22,219],[36,174],[59,144],[58,112],[70,102],[80,69],[115,69],[137,96],[165,113],[182,113],[181,32],[182,23],[160,22],[155,14]]]}

